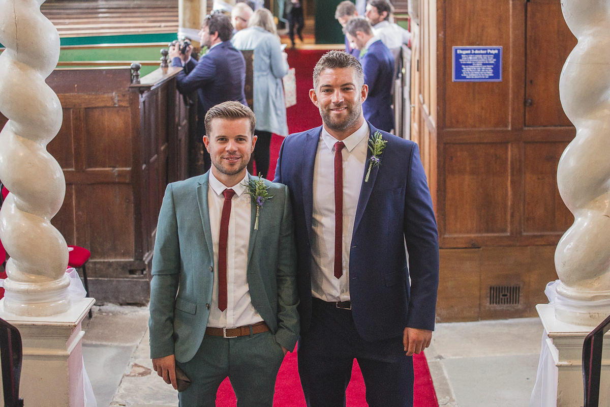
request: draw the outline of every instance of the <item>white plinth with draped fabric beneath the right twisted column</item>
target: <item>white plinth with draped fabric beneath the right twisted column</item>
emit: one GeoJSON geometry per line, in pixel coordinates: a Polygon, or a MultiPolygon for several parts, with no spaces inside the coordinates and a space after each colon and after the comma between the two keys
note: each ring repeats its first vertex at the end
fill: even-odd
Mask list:
{"type": "MultiPolygon", "coordinates": [[[[584,402],[583,342],[595,326],[562,322],[556,318],[551,304],[538,304],[536,309],[548,334],[541,351],[543,354],[550,353],[556,367],[539,367],[539,377],[542,369],[544,385],[557,385],[557,407],[581,407],[584,402]]],[[[606,334],[603,340],[599,400],[599,407],[610,407],[610,334],[606,334]]],[[[553,400],[543,401],[543,406],[555,405],[553,400]]]]}

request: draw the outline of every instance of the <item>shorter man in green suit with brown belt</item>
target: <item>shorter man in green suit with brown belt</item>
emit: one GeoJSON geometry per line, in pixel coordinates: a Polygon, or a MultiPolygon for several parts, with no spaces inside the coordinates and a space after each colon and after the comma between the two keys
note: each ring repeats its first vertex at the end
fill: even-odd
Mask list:
{"type": "Polygon", "coordinates": [[[287,187],[248,174],[254,113],[212,107],[212,168],[167,186],[152,258],[152,366],[180,405],[213,406],[229,377],[240,406],[271,406],[276,375],[299,334],[296,254],[287,187]]]}

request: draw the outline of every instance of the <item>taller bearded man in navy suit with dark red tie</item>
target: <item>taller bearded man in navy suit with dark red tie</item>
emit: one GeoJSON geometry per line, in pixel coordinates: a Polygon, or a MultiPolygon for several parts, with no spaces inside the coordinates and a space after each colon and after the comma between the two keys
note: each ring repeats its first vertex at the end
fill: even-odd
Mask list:
{"type": "Polygon", "coordinates": [[[412,406],[412,355],[434,329],[438,234],[419,151],[364,119],[367,95],[358,60],[326,53],[309,91],[323,126],[289,135],[278,157],[275,181],[288,185],[295,217],[310,407],[345,406],[354,358],[369,406],[412,406]]]}

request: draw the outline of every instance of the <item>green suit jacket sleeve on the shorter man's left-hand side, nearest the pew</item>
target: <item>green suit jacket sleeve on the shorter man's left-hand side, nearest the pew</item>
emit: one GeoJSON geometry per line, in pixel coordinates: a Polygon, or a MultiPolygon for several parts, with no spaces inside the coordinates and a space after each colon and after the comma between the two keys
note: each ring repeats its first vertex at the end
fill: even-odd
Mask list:
{"type": "Polygon", "coordinates": [[[174,353],[174,301],[180,279],[178,222],[171,184],[167,185],[157,222],[151,267],[150,331],[151,358],[174,353]]]}

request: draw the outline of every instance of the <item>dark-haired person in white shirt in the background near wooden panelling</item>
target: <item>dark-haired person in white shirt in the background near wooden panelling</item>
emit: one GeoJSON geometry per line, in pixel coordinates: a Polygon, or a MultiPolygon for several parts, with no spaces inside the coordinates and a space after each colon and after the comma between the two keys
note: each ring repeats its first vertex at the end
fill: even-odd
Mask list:
{"type": "Polygon", "coordinates": [[[411,46],[411,33],[391,22],[394,7],[387,0],[369,0],[364,16],[373,26],[373,35],[381,39],[387,48],[398,48],[406,44],[411,46]]]}

